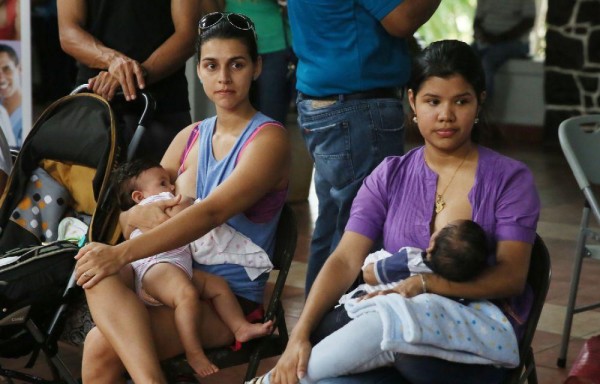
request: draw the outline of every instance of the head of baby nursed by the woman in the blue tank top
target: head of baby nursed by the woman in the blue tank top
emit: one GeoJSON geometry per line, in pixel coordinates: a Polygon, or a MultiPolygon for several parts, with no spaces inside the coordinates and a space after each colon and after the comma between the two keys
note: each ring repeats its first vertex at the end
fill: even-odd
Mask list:
{"type": "Polygon", "coordinates": [[[149,196],[175,190],[167,170],[151,159],[136,159],[119,166],[112,173],[112,188],[122,211],[149,196]]]}

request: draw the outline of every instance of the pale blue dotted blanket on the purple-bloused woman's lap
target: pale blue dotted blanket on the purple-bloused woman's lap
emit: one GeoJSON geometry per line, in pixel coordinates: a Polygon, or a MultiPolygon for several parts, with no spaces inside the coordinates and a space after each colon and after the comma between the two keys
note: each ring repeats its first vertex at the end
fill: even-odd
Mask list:
{"type": "Polygon", "coordinates": [[[382,350],[508,368],[519,364],[514,330],[489,301],[463,305],[435,294],[410,299],[388,294],[345,305],[351,318],[372,311],[381,315],[382,350]]]}

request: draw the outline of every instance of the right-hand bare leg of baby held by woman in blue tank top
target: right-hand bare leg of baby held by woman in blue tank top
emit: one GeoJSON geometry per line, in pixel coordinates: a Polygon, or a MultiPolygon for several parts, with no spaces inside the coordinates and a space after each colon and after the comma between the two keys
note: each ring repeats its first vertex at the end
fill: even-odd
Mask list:
{"type": "Polygon", "coordinates": [[[216,312],[229,329],[234,333],[235,339],[245,342],[260,336],[265,336],[273,331],[273,321],[265,323],[250,323],[244,317],[242,308],[227,281],[210,273],[196,272],[196,286],[203,300],[211,300],[216,312]]]}

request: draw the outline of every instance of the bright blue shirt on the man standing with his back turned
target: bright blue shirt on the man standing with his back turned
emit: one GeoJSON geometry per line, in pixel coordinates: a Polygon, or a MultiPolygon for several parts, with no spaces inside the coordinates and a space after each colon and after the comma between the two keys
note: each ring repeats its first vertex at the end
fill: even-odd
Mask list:
{"type": "Polygon", "coordinates": [[[380,20],[403,0],[288,0],[298,57],[296,88],[311,96],[402,87],[410,75],[406,41],[380,20]]]}

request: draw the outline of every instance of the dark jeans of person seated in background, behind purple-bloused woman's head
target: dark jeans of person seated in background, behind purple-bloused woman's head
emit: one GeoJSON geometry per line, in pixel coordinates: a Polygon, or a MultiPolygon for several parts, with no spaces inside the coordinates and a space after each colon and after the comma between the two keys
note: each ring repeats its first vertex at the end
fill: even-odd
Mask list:
{"type": "Polygon", "coordinates": [[[473,47],[481,57],[488,97],[492,97],[494,94],[494,76],[502,64],[510,59],[526,58],[529,53],[529,44],[520,40],[484,47],[475,43],[473,47]]]}

